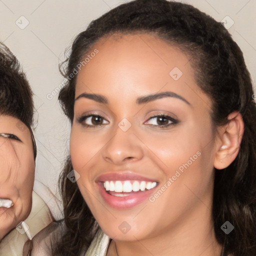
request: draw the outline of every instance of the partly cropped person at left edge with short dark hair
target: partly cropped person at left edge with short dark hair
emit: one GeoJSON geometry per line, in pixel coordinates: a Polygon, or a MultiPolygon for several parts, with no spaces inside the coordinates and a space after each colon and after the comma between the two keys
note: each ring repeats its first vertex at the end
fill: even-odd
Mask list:
{"type": "Polygon", "coordinates": [[[23,245],[52,221],[33,192],[36,144],[32,90],[17,58],[0,43],[0,255],[23,245]]]}

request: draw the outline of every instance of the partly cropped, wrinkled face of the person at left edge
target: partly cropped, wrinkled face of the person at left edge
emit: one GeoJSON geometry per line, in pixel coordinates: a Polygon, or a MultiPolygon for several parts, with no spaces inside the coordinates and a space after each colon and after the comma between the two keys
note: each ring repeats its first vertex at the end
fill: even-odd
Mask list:
{"type": "Polygon", "coordinates": [[[0,239],[30,213],[34,167],[29,129],[0,115],[0,239]]]}

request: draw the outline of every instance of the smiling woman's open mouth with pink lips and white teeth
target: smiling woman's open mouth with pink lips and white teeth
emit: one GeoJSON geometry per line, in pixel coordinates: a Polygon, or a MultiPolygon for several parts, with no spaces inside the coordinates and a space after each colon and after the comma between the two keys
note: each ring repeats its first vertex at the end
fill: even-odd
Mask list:
{"type": "Polygon", "coordinates": [[[96,183],[104,201],[117,209],[127,209],[142,203],[158,185],[156,180],[134,173],[105,174],[96,183]]]}

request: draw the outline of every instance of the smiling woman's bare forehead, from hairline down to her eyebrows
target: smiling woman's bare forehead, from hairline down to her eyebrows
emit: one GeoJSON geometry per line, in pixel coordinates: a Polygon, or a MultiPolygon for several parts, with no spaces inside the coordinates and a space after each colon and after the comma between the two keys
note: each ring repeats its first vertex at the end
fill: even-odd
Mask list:
{"type": "Polygon", "coordinates": [[[160,90],[191,93],[192,87],[200,91],[189,56],[152,34],[113,34],[97,41],[88,55],[77,74],[75,96],[85,91],[122,91],[124,97],[160,90]],[[90,56],[95,49],[98,53],[90,56]]]}

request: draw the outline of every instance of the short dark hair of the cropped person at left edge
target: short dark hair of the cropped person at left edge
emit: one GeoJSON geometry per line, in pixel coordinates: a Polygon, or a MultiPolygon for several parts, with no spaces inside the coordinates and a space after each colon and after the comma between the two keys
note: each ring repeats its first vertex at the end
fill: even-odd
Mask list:
{"type": "Polygon", "coordinates": [[[0,42],[0,115],[16,117],[28,127],[35,158],[36,144],[31,130],[34,111],[32,95],[31,87],[17,58],[0,42]]]}

